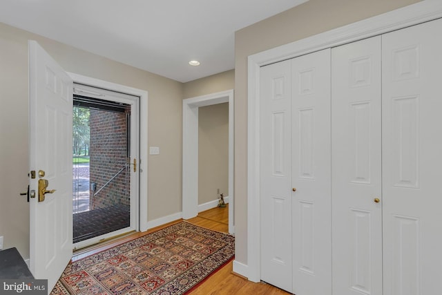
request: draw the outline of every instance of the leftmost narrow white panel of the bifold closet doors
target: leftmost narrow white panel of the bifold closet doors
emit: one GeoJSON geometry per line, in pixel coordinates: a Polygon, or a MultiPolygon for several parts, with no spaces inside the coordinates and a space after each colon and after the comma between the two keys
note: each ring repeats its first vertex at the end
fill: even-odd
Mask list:
{"type": "Polygon", "coordinates": [[[291,63],[260,70],[261,279],[291,292],[291,63]]]}

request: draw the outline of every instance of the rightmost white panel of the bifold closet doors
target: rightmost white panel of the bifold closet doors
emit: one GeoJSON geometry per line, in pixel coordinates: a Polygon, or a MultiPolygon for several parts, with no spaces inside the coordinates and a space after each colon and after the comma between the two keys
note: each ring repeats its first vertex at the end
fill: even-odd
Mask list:
{"type": "Polygon", "coordinates": [[[383,36],[384,294],[442,290],[442,20],[383,36]]]}

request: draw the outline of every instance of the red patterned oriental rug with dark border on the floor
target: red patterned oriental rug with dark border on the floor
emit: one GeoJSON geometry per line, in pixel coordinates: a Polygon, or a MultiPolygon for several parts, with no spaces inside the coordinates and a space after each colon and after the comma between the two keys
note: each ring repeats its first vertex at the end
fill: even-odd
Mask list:
{"type": "Polygon", "coordinates": [[[234,244],[180,222],[70,263],[51,294],[185,294],[233,258],[234,244]]]}

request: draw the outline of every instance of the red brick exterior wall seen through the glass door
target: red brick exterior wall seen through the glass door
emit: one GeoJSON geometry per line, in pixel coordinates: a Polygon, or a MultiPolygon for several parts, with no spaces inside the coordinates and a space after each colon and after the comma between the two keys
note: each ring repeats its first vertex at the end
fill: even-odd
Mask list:
{"type": "MultiPolygon", "coordinates": [[[[90,109],[90,183],[96,191],[126,165],[127,122],[125,113],[90,109]]],[[[128,167],[130,169],[130,167],[128,167]]],[[[130,205],[130,172],[124,169],[97,196],[90,191],[90,209],[130,205]]]]}

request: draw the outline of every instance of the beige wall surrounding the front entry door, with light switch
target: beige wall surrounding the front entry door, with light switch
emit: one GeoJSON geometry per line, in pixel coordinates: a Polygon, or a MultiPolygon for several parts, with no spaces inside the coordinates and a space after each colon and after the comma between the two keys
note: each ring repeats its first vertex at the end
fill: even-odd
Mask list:
{"type": "MultiPolygon", "coordinates": [[[[0,236],[29,257],[28,39],[68,72],[148,91],[148,220],[182,211],[183,84],[0,23],[0,236]]],[[[110,46],[112,44],[109,44],[110,46]]],[[[146,175],[146,174],[144,174],[146,175]]]]}

